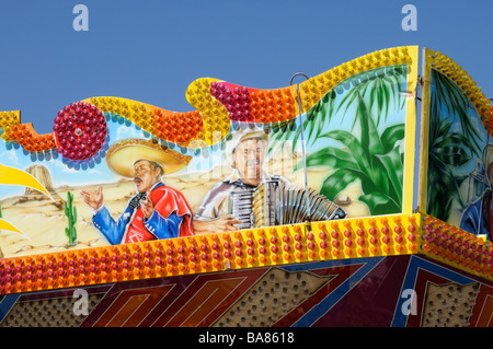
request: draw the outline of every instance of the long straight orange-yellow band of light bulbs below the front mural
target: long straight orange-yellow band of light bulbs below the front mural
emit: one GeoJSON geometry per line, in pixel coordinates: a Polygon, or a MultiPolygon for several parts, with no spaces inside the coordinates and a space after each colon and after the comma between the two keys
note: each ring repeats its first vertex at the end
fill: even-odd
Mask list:
{"type": "Polygon", "coordinates": [[[0,263],[0,294],[301,261],[412,254],[420,234],[420,229],[413,226],[419,224],[416,217],[402,214],[5,258],[0,263]]]}

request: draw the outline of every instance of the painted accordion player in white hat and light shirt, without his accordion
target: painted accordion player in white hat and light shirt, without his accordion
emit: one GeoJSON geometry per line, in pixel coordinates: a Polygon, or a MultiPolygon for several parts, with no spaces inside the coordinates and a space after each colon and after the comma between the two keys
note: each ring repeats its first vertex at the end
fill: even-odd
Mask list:
{"type": "Polygon", "coordinates": [[[233,173],[207,193],[195,212],[193,225],[197,234],[239,230],[243,222],[231,214],[231,193],[255,188],[262,181],[273,177],[289,184],[288,179],[264,170],[268,131],[251,125],[244,127],[226,142],[223,156],[233,173]]]}

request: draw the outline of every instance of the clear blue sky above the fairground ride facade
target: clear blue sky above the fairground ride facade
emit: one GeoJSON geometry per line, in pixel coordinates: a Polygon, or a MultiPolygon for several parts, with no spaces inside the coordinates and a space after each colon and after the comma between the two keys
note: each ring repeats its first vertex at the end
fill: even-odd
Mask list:
{"type": "Polygon", "coordinates": [[[296,72],[402,45],[446,54],[493,97],[492,13],[490,0],[2,0],[0,110],[20,109],[38,133],[91,96],[187,112],[185,91],[198,78],[276,89],[296,72]],[[72,27],[78,3],[89,9],[88,32],[72,27]],[[401,27],[408,3],[415,32],[401,27]]]}

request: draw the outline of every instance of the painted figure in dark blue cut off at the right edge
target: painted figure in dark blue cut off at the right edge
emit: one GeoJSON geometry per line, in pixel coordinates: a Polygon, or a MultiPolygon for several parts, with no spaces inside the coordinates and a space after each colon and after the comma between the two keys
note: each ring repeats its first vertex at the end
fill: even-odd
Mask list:
{"type": "Polygon", "coordinates": [[[467,232],[479,235],[486,235],[492,241],[493,233],[493,144],[488,144],[483,150],[483,166],[489,187],[482,197],[472,202],[463,212],[460,228],[467,232]]]}

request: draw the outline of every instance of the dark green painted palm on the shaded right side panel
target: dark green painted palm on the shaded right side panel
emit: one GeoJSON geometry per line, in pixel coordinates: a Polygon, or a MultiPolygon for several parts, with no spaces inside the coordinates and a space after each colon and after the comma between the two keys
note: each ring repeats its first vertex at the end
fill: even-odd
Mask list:
{"type": "Polygon", "coordinates": [[[454,200],[465,206],[459,188],[467,176],[457,170],[481,156],[481,135],[471,121],[473,113],[466,94],[432,69],[426,211],[442,220],[448,220],[454,200]]]}

